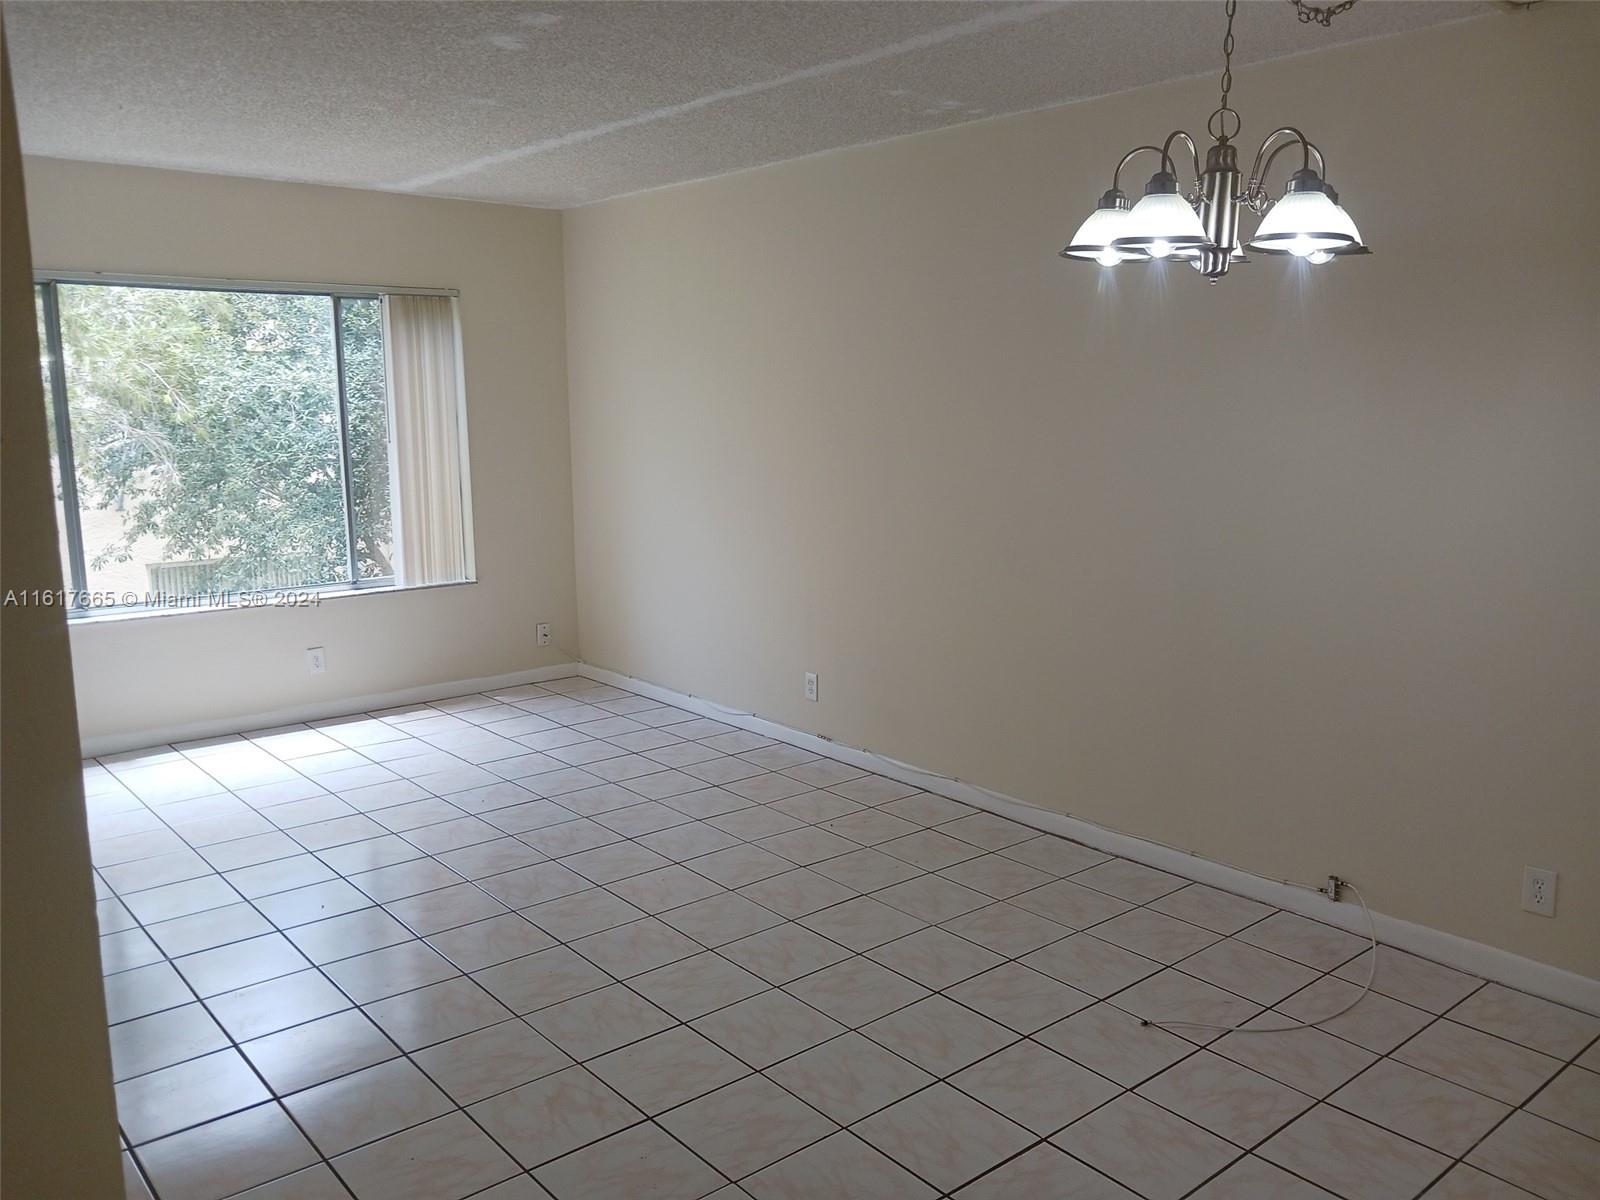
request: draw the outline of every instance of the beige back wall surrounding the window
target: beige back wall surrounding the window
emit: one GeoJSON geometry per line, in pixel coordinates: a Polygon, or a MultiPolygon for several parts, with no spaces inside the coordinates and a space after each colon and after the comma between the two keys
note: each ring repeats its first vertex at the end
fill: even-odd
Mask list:
{"type": "Polygon", "coordinates": [[[558,213],[48,158],[27,186],[40,267],[461,290],[478,582],[74,626],[86,739],[570,658],[558,213]],[[539,621],[557,646],[536,646],[539,621]],[[325,675],[307,646],[326,646],[325,675]]]}

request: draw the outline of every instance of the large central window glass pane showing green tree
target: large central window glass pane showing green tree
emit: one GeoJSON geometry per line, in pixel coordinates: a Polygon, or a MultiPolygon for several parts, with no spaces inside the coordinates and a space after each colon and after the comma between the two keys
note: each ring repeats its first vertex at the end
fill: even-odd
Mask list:
{"type": "Polygon", "coordinates": [[[326,296],[58,294],[90,590],[349,579],[326,296]]]}

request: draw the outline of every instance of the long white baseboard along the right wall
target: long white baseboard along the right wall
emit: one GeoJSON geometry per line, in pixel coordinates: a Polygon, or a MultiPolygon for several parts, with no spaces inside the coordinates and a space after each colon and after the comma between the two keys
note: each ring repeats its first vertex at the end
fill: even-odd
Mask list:
{"type": "MultiPolygon", "coordinates": [[[[1358,933],[1363,938],[1366,936],[1366,920],[1362,915],[1360,907],[1352,904],[1334,904],[1325,899],[1312,886],[1283,883],[1280,880],[1254,875],[1248,870],[1242,870],[1240,867],[1230,867],[1226,862],[1216,862],[1213,859],[1202,858],[1200,854],[1192,854],[1186,850],[1165,846],[1158,842],[1150,842],[1131,834],[1118,834],[1114,829],[1096,826],[1094,822],[1083,821],[1082,818],[1067,816],[1066,813],[1058,813],[1048,808],[1038,808],[1037,805],[1030,805],[998,792],[990,792],[984,787],[976,787],[974,784],[965,784],[958,779],[923,771],[917,766],[910,766],[909,763],[874,754],[872,750],[845,746],[843,742],[835,742],[813,733],[802,733],[789,728],[787,725],[766,720],[765,717],[726,709],[722,704],[715,704],[699,696],[690,696],[682,691],[674,691],[672,688],[662,688],[656,683],[634,678],[632,675],[622,675],[619,672],[592,667],[589,664],[578,664],[570,670],[600,683],[610,683],[616,688],[637,691],[642,696],[659,699],[664,704],[688,709],[690,712],[696,712],[702,717],[712,717],[741,730],[760,733],[765,738],[773,738],[814,754],[838,758],[840,762],[859,766],[864,771],[874,771],[877,774],[888,776],[890,779],[899,779],[901,782],[920,787],[925,792],[934,792],[936,795],[944,795],[950,800],[960,800],[962,803],[1010,818],[1032,829],[1069,837],[1074,842],[1082,842],[1083,845],[1093,846],[1094,850],[1101,850],[1107,854],[1128,858],[1134,862],[1157,867],[1158,870],[1168,870],[1198,883],[1208,883],[1214,888],[1222,888],[1224,891],[1232,891],[1234,894],[1246,896],[1277,909],[1298,912],[1302,917],[1310,917],[1312,920],[1325,922],[1326,925],[1336,925],[1342,930],[1358,933]]],[[[1467,971],[1483,979],[1493,979],[1494,982],[1515,987],[1517,990],[1528,992],[1531,995],[1544,997],[1546,1000],[1555,1000],[1557,1003],[1581,1008],[1586,1013],[1600,1014],[1600,979],[1590,979],[1587,976],[1576,974],[1574,971],[1565,971],[1560,966],[1550,966],[1549,963],[1534,962],[1533,958],[1523,958],[1510,950],[1475,942],[1469,938],[1459,938],[1453,933],[1445,933],[1443,930],[1416,925],[1414,922],[1389,917],[1381,912],[1373,914],[1373,922],[1378,928],[1378,941],[1386,946],[1394,946],[1395,949],[1408,950],[1424,958],[1432,958],[1434,962],[1453,966],[1458,971],[1467,971]]]]}

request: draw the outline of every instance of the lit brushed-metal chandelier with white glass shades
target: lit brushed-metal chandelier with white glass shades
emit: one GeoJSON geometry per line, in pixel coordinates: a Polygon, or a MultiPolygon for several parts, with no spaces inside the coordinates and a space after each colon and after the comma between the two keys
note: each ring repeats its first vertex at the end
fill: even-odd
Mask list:
{"type": "MultiPolygon", "coordinates": [[[[1328,18],[1350,8],[1354,0],[1328,10],[1293,0],[1301,21],[1328,24],[1328,18]]],[[[1253,254],[1293,254],[1306,262],[1330,262],[1341,254],[1370,254],[1355,222],[1339,205],[1339,194],[1328,186],[1328,162],[1322,150],[1293,125],[1274,130],[1256,150],[1250,178],[1238,170],[1234,138],[1242,126],[1227,102],[1234,86],[1234,13],[1238,0],[1227,0],[1227,32],[1222,37],[1222,102],[1206,120],[1211,147],[1200,170],[1200,150],[1182,130],[1174,130],[1160,146],[1136,146],[1112,173],[1110,190],[1061,251],[1062,258],[1115,267],[1123,262],[1152,262],[1166,258],[1189,262],[1216,283],[1235,262],[1253,254]],[[1194,160],[1194,187],[1178,189],[1173,146],[1182,142],[1194,160]],[[1285,150],[1298,152],[1299,170],[1290,176],[1283,195],[1267,197],[1267,173],[1285,150]],[[1160,168],[1144,186],[1136,205],[1122,190],[1122,170],[1139,154],[1158,154],[1160,168]],[[1240,248],[1240,210],[1261,216],[1256,232],[1240,248]]]]}

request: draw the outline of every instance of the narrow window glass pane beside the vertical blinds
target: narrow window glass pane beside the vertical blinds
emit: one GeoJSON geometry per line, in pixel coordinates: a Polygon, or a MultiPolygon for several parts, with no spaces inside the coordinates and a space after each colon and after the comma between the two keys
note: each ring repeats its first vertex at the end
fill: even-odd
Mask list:
{"type": "Polygon", "coordinates": [[[344,339],[344,403],[350,421],[350,501],[355,509],[355,570],[362,579],[390,579],[389,400],[384,394],[384,304],[339,301],[344,339]]]}

